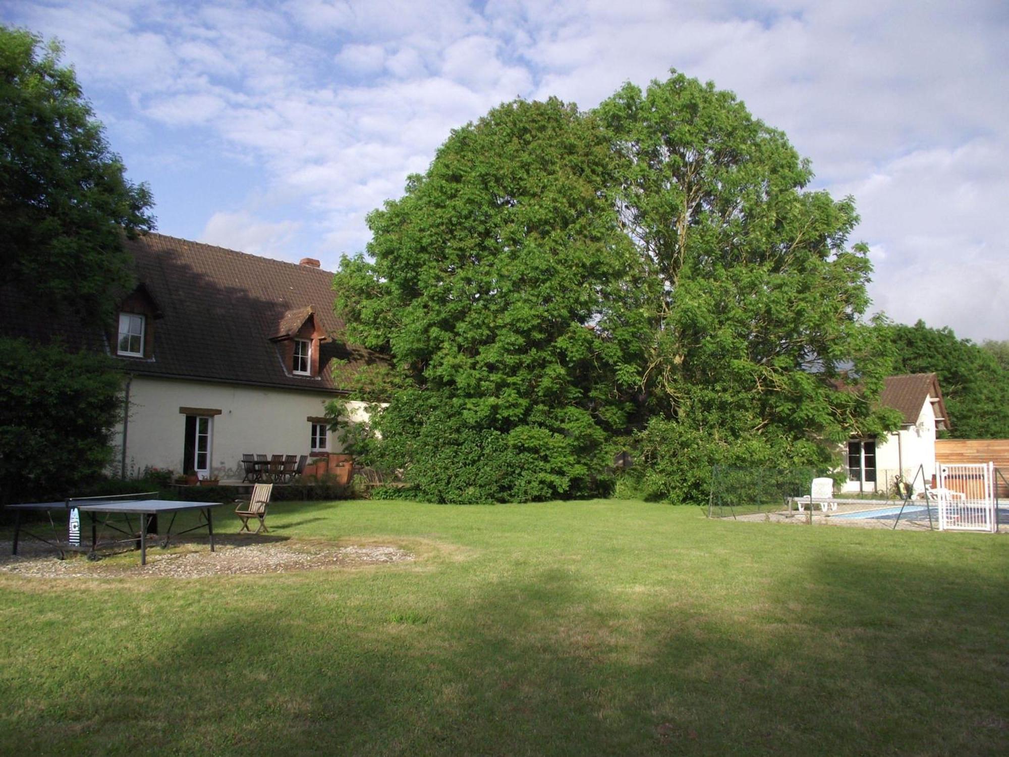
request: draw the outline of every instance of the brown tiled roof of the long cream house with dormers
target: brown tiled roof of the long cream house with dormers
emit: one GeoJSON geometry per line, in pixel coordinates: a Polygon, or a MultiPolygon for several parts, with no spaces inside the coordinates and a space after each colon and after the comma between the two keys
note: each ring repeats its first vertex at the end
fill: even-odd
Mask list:
{"type": "MultiPolygon", "coordinates": [[[[152,358],[118,358],[130,372],[333,392],[346,369],[337,360],[355,365],[383,359],[344,343],[331,273],[154,233],[125,245],[138,284],[160,315],[152,358]],[[310,313],[329,340],[320,345],[320,375],[295,376],[270,338],[288,333],[300,318],[297,330],[310,313]]],[[[107,349],[100,335],[75,328],[73,319],[53,320],[44,305],[0,300],[6,300],[0,303],[4,333],[47,340],[54,331],[74,348],[107,349]]]]}

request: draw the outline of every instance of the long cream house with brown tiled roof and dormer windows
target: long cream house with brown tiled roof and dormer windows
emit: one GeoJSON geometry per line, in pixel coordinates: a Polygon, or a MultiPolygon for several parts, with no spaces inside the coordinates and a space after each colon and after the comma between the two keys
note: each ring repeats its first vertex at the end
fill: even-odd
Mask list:
{"type": "MultiPolygon", "coordinates": [[[[346,394],[349,372],[381,358],[342,340],[331,273],[310,258],[295,264],[154,233],[124,244],[137,286],[108,332],[63,322],[45,303],[0,307],[13,336],[59,339],[119,363],[123,475],[150,466],[235,479],[242,454],[341,450],[326,403],[346,394]]],[[[363,412],[351,405],[353,420],[363,412]]]]}

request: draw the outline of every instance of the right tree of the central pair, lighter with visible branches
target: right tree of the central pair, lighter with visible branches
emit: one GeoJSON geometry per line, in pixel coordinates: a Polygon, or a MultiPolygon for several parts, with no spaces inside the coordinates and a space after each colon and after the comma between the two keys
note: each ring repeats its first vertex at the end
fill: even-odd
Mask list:
{"type": "Polygon", "coordinates": [[[823,466],[824,441],[892,423],[871,411],[887,360],[863,321],[872,268],[848,246],[854,202],[808,191],[785,135],[710,83],[628,84],[598,113],[623,157],[648,320],[647,493],[706,498],[714,463],[823,466]],[[835,391],[846,372],[861,392],[835,391]]]}

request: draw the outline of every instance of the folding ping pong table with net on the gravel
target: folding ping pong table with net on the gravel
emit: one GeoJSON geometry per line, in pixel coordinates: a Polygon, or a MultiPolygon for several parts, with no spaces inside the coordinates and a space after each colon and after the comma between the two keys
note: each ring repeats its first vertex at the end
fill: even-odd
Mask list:
{"type": "Polygon", "coordinates": [[[25,536],[30,536],[37,541],[43,542],[52,547],[63,558],[65,552],[77,551],[87,552],[89,559],[98,559],[98,549],[112,547],[117,544],[127,544],[137,542],[137,531],[133,528],[131,516],[136,516],[139,520],[139,546],[140,564],[147,564],[147,534],[151,521],[157,516],[172,516],[167,530],[163,535],[158,534],[161,539],[161,547],[166,548],[172,538],[172,528],[175,526],[176,517],[180,513],[188,511],[199,511],[199,523],[192,528],[179,531],[175,535],[182,536],[192,531],[207,529],[210,537],[210,551],[214,551],[214,521],[211,515],[212,508],[219,507],[221,502],[177,502],[174,500],[153,500],[147,499],[156,496],[157,492],[144,492],[136,495],[122,495],[113,497],[78,497],[68,498],[63,502],[34,502],[8,505],[7,508],[15,512],[14,522],[14,542],[12,553],[17,554],[18,541],[22,532],[25,536]],[[77,517],[75,519],[75,511],[77,517]],[[46,539],[39,534],[23,528],[21,514],[25,512],[45,512],[48,516],[49,525],[52,527],[53,536],[46,539]],[[52,513],[67,513],[67,538],[60,538],[60,531],[55,521],[52,520],[52,513]],[[84,526],[84,516],[88,517],[91,526],[91,544],[83,543],[81,531],[84,526]],[[125,529],[122,528],[125,522],[125,529]],[[126,530],[129,529],[129,530],[126,530]],[[106,531],[113,531],[121,535],[120,538],[103,539],[106,531]],[[125,537],[125,538],[122,538],[125,537]]]}

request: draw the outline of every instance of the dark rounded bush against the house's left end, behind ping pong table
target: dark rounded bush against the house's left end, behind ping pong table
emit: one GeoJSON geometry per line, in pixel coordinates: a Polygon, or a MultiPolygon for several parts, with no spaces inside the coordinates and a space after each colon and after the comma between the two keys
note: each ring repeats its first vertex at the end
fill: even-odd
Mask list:
{"type": "Polygon", "coordinates": [[[3,502],[63,496],[101,475],[121,385],[104,355],[0,339],[3,502]]]}

